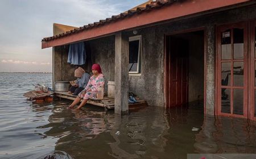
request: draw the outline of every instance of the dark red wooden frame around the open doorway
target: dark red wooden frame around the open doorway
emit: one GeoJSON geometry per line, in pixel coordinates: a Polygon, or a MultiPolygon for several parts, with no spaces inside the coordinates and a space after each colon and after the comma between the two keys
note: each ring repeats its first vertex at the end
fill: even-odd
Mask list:
{"type": "MultiPolygon", "coordinates": [[[[170,33],[164,34],[164,44],[163,44],[163,50],[164,50],[164,107],[167,108],[167,36],[172,36],[172,35],[178,35],[178,34],[186,34],[189,32],[196,32],[196,31],[203,31],[204,32],[204,114],[206,113],[206,77],[207,77],[207,62],[206,62],[206,55],[207,55],[207,35],[205,34],[207,31],[207,27],[198,27],[198,28],[191,28],[188,30],[180,30],[180,31],[173,31],[170,33]]],[[[189,82],[189,81],[188,81],[189,82]]],[[[188,83],[189,85],[189,83],[188,83]]]]}

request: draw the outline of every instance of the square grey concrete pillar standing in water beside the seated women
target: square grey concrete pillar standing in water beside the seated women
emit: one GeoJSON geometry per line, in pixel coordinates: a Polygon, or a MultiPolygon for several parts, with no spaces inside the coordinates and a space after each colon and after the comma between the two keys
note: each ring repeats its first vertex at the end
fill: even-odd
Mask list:
{"type": "Polygon", "coordinates": [[[128,114],[129,39],[122,32],[115,34],[115,113],[128,114]]]}

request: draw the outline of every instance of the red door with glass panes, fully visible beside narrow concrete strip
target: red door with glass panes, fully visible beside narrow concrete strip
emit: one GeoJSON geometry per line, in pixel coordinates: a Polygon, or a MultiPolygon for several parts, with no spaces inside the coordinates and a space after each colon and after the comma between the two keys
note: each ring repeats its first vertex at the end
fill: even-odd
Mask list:
{"type": "Polygon", "coordinates": [[[247,23],[217,27],[217,114],[248,118],[247,23]]]}

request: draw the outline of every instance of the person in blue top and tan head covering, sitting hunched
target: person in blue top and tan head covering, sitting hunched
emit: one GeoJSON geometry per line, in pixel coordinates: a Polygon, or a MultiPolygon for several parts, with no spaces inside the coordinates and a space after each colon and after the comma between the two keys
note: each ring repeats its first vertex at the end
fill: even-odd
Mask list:
{"type": "Polygon", "coordinates": [[[75,70],[75,77],[77,77],[77,80],[75,85],[71,86],[70,92],[73,93],[73,95],[78,95],[87,85],[90,79],[90,74],[79,67],[75,70]]]}

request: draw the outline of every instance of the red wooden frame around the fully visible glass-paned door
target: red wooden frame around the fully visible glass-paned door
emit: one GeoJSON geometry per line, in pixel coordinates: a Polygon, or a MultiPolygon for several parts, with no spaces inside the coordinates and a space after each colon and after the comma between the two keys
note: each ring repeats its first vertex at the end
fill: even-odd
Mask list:
{"type": "MultiPolygon", "coordinates": [[[[249,30],[248,30],[248,22],[237,22],[237,23],[230,23],[230,24],[220,24],[218,26],[216,26],[216,66],[215,66],[215,83],[216,83],[216,93],[215,93],[215,99],[216,99],[216,104],[215,104],[215,115],[219,115],[219,116],[233,116],[233,117],[239,117],[239,118],[249,118],[249,30]],[[237,27],[237,26],[243,26],[245,31],[244,31],[244,45],[245,45],[245,50],[244,50],[244,57],[243,57],[243,80],[244,80],[244,88],[243,88],[243,115],[237,115],[237,114],[233,114],[233,101],[231,101],[230,99],[230,114],[221,112],[221,97],[219,97],[219,95],[221,94],[221,80],[219,78],[221,78],[221,45],[219,45],[221,43],[221,37],[220,37],[220,32],[221,30],[224,30],[225,28],[233,28],[233,27],[237,27]],[[247,99],[245,99],[247,98],[247,99]],[[232,114],[231,114],[232,113],[232,114]]],[[[231,34],[231,33],[230,33],[231,34]]],[[[231,34],[233,35],[233,34],[231,34]]],[[[233,36],[232,36],[233,37],[233,36]]],[[[233,41],[233,40],[232,40],[233,41]]],[[[232,56],[233,56],[233,45],[232,45],[232,56]]],[[[230,60],[231,63],[233,63],[233,57],[232,60],[230,60]]],[[[231,65],[231,67],[233,66],[233,64],[231,65]]],[[[233,69],[232,69],[233,70],[233,69]]],[[[230,86],[230,89],[236,89],[236,86],[230,86]]],[[[239,89],[239,88],[237,88],[239,89]]],[[[233,93],[230,93],[230,97],[233,96],[233,93]]],[[[233,97],[232,97],[233,99],[233,97]]]]}

